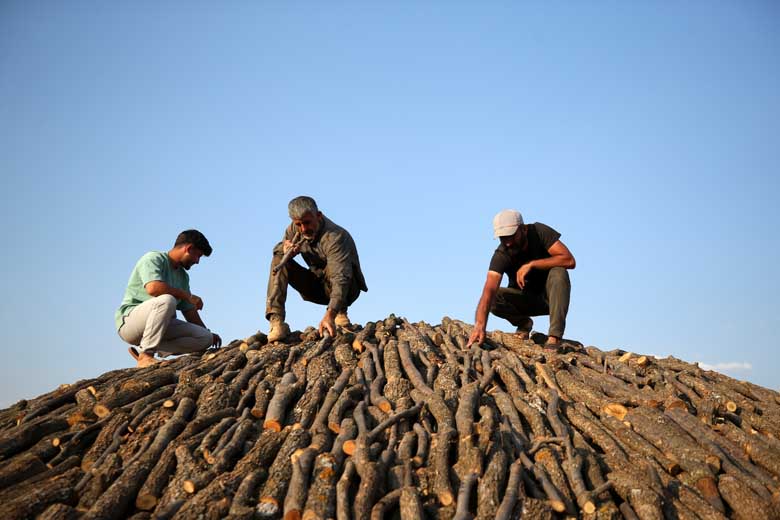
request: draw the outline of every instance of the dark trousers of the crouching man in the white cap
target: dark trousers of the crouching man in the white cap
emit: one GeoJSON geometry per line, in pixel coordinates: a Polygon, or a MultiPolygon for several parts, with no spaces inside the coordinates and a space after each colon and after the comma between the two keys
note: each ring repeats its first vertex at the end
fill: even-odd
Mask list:
{"type": "Polygon", "coordinates": [[[531,330],[529,316],[550,315],[550,336],[563,337],[566,328],[566,314],[569,312],[571,281],[569,272],[563,267],[553,267],[547,273],[544,292],[523,291],[512,287],[501,287],[496,293],[490,312],[509,321],[521,330],[531,330]]]}

